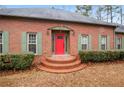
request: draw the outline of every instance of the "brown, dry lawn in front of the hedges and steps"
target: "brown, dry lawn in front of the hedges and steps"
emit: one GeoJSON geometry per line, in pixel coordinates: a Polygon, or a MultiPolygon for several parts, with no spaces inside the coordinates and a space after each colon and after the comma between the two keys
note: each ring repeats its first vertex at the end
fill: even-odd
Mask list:
{"type": "Polygon", "coordinates": [[[81,71],[54,74],[36,69],[0,73],[0,86],[124,86],[124,62],[92,64],[81,71]]]}

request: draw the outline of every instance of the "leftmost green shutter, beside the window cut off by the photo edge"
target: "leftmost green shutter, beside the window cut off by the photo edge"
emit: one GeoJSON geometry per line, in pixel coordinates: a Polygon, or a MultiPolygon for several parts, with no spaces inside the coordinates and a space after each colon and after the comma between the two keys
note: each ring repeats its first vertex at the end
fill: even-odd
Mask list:
{"type": "Polygon", "coordinates": [[[3,53],[9,52],[9,33],[3,32],[3,53]]]}

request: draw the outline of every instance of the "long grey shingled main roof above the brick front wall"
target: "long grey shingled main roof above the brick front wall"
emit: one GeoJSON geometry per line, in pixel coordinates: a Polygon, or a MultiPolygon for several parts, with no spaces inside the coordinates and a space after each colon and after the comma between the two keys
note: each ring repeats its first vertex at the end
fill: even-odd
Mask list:
{"type": "Polygon", "coordinates": [[[50,8],[4,8],[0,10],[0,15],[116,26],[116,24],[85,17],[78,13],[50,8]]]}

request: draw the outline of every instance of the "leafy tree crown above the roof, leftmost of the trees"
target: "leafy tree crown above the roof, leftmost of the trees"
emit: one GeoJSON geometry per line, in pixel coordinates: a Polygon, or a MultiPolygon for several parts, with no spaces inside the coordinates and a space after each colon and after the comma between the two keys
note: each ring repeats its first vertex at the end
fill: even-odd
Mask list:
{"type": "Polygon", "coordinates": [[[92,6],[91,5],[77,5],[76,6],[76,12],[78,12],[84,16],[91,16],[92,6]]]}

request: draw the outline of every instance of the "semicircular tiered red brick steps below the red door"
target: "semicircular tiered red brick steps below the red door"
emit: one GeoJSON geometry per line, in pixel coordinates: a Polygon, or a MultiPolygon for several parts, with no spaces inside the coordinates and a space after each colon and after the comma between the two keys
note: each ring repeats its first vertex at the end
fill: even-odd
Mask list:
{"type": "Polygon", "coordinates": [[[86,65],[82,64],[75,56],[54,56],[46,57],[37,67],[47,72],[68,73],[81,70],[86,65]]]}

